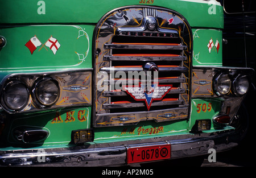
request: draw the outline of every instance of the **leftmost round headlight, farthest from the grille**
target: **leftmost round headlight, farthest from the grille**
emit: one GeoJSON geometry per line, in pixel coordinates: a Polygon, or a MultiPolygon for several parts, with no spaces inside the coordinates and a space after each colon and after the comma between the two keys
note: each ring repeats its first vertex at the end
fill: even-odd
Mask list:
{"type": "Polygon", "coordinates": [[[3,101],[10,110],[22,110],[29,97],[28,89],[22,82],[9,82],[3,89],[3,101]]]}

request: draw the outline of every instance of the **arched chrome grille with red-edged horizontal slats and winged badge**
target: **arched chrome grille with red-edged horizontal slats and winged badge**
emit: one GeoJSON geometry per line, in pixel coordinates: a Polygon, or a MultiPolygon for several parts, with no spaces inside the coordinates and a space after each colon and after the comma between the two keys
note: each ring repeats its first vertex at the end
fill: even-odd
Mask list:
{"type": "Polygon", "coordinates": [[[188,27],[174,11],[143,6],[114,10],[100,20],[94,36],[95,127],[188,118],[188,27]],[[147,64],[156,65],[157,75],[147,76],[147,64]]]}

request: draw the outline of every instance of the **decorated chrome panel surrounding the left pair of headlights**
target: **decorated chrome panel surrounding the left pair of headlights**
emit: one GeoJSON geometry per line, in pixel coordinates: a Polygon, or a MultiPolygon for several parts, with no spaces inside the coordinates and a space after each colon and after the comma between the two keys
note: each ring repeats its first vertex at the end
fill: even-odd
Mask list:
{"type": "MultiPolygon", "coordinates": [[[[58,87],[60,89],[59,100],[55,102],[52,106],[43,107],[43,105],[36,104],[36,100],[34,97],[31,97],[33,100],[28,100],[27,105],[21,110],[9,110],[1,101],[1,106],[7,113],[32,113],[32,111],[45,111],[57,109],[60,107],[71,107],[71,106],[82,106],[82,105],[92,105],[92,68],[80,69],[80,70],[64,70],[64,71],[53,71],[53,72],[39,72],[39,73],[14,73],[14,74],[6,74],[3,80],[0,83],[0,90],[3,90],[5,86],[11,81],[22,81],[26,83],[28,87],[28,91],[32,91],[33,84],[35,81],[38,81],[40,78],[52,78],[53,80],[58,82],[58,87]],[[65,90],[63,88],[67,88],[69,86],[81,86],[82,90],[70,91],[65,90]],[[81,95],[84,93],[86,95],[86,99],[81,95]],[[68,98],[69,100],[66,100],[68,98]]],[[[1,97],[2,98],[2,97],[1,97]]],[[[2,99],[1,99],[2,100],[2,99]]]]}

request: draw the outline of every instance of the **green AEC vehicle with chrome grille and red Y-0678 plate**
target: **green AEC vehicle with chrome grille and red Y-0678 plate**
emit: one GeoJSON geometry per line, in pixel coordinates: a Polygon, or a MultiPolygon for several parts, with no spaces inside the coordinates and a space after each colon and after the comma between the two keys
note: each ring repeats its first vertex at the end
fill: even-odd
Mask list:
{"type": "Polygon", "coordinates": [[[228,150],[251,68],[218,1],[0,0],[0,164],[133,165],[228,150]]]}

